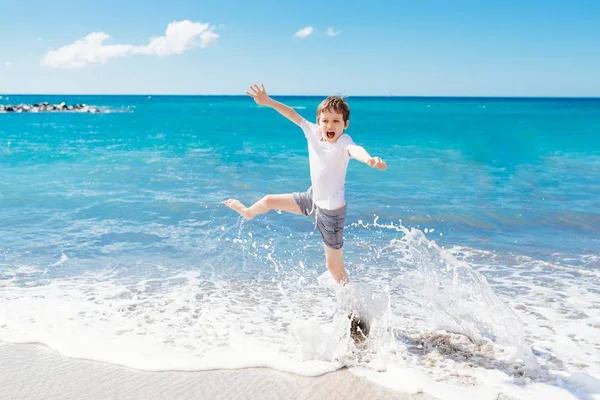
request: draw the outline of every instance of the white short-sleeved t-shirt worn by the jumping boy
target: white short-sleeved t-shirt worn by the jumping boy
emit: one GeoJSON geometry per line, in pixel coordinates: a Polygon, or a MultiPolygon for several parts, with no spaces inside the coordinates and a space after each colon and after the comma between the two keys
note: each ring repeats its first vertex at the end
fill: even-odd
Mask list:
{"type": "Polygon", "coordinates": [[[322,209],[335,210],[346,205],[346,171],[350,161],[348,146],[354,142],[349,135],[342,134],[331,144],[321,140],[318,125],[302,119],[300,127],[308,140],[310,181],[313,201],[322,209]]]}

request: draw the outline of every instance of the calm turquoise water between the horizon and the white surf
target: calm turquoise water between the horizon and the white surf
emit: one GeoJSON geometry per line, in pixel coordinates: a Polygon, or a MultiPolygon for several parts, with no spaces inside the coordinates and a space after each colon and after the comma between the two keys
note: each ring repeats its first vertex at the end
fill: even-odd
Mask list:
{"type": "MultiPolygon", "coordinates": [[[[310,185],[302,132],[244,97],[1,101],[41,100],[116,112],[2,115],[2,229],[10,250],[58,234],[62,238],[47,252],[36,247],[36,254],[64,250],[93,257],[124,238],[107,237],[99,245],[90,234],[73,241],[61,235],[72,222],[226,225],[234,216],[215,209],[224,198],[252,202],[310,185]],[[41,226],[33,229],[33,221],[41,226]]],[[[314,119],[320,98],[281,100],[314,119]]],[[[445,245],[557,261],[600,248],[600,100],[350,98],[350,104],[348,133],[389,169],[350,165],[349,221],[401,219],[406,226],[436,229],[445,245]]],[[[276,215],[256,224],[310,228],[276,215]]],[[[211,228],[193,229],[187,240],[208,238],[211,228]]],[[[182,253],[177,245],[164,248],[164,237],[148,235],[127,241],[182,253]]]]}

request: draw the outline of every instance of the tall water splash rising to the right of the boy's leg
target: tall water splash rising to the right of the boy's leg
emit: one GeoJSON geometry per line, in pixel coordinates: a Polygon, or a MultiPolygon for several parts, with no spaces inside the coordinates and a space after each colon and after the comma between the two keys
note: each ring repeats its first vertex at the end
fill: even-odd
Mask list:
{"type": "Polygon", "coordinates": [[[506,362],[531,360],[523,323],[491,289],[483,275],[430,241],[418,229],[400,228],[401,239],[392,251],[413,264],[404,283],[420,296],[424,314],[433,329],[465,335],[478,344],[493,344],[506,362]]]}

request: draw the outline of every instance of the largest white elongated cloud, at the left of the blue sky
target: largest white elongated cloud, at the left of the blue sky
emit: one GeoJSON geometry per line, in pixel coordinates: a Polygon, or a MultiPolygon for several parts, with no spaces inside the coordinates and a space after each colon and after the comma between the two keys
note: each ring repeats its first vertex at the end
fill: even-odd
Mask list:
{"type": "Polygon", "coordinates": [[[194,47],[205,48],[219,37],[214,27],[192,21],[174,21],[167,26],[164,36],[153,37],[147,45],[105,45],[110,36],[93,32],[83,39],[48,52],[42,65],[53,68],[81,68],[88,64],[105,63],[111,58],[132,54],[168,56],[181,54],[194,47]]]}

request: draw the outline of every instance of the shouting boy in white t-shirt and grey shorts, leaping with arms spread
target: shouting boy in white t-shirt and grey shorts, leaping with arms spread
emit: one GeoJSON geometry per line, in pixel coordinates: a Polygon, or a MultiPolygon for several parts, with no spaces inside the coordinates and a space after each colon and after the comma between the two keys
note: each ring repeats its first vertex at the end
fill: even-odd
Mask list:
{"type": "Polygon", "coordinates": [[[283,210],[302,214],[315,219],[325,248],[325,263],[333,278],[345,285],[348,273],[344,268],[342,246],[346,220],[344,186],[350,157],[370,167],[385,170],[385,162],[371,157],[352,138],[344,134],[350,122],[350,108],[341,97],[328,97],[317,108],[317,124],[305,120],[293,108],[279,103],[267,95],[265,86],[250,86],[246,94],[263,106],[277,110],[281,115],[298,125],[308,141],[310,180],[312,186],[306,192],[268,194],[250,207],[239,200],[229,199],[224,204],[252,219],[270,210],[283,210]]]}

